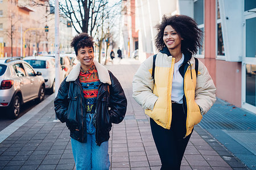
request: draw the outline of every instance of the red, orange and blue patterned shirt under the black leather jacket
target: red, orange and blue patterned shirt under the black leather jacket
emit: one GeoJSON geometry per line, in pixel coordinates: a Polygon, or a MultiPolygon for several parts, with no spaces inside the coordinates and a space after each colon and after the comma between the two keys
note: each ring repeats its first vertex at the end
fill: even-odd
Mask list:
{"type": "Polygon", "coordinates": [[[98,95],[98,86],[100,85],[95,65],[93,64],[88,71],[83,71],[80,68],[79,80],[82,85],[82,92],[84,93],[86,101],[86,113],[94,114],[98,95]]]}

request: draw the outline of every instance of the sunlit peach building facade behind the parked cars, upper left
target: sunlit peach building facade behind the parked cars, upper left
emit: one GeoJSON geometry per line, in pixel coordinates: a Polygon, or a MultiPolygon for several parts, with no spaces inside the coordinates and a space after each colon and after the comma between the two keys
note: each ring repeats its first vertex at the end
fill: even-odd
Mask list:
{"type": "MultiPolygon", "coordinates": [[[[0,0],[0,44],[3,44],[0,57],[54,52],[54,13],[46,3],[45,0],[0,0]]],[[[72,28],[67,27],[67,19],[60,17],[59,28],[60,52],[71,52],[72,28]]]]}

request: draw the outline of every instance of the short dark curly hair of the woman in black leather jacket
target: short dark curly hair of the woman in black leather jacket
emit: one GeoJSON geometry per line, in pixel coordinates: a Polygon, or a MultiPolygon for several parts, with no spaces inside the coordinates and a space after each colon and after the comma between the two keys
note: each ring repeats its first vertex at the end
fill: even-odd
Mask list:
{"type": "Polygon", "coordinates": [[[77,51],[79,51],[80,48],[84,48],[84,47],[92,47],[93,51],[94,51],[94,47],[93,47],[93,38],[92,36],[89,36],[87,33],[83,32],[80,34],[77,34],[72,42],[71,42],[71,47],[73,47],[75,49],[76,52],[76,56],[77,56],[77,51]]]}

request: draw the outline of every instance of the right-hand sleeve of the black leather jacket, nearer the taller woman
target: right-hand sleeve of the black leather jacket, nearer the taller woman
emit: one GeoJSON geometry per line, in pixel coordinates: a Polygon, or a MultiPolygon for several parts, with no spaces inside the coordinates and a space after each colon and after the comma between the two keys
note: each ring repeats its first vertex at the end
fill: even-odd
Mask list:
{"type": "Polygon", "coordinates": [[[120,82],[111,72],[109,72],[109,75],[112,81],[112,84],[110,85],[109,114],[112,118],[112,123],[120,123],[123,121],[123,118],[125,118],[127,99],[120,82]]]}

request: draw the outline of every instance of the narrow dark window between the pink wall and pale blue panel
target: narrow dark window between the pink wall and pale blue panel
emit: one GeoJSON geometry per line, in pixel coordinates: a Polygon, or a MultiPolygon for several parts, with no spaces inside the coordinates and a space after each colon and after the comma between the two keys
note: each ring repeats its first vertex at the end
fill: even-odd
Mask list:
{"type": "Polygon", "coordinates": [[[217,1],[217,56],[220,58],[225,56],[222,28],[221,28],[220,6],[218,5],[218,1],[217,1]]]}

